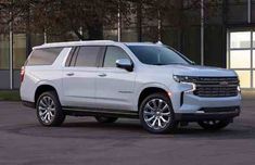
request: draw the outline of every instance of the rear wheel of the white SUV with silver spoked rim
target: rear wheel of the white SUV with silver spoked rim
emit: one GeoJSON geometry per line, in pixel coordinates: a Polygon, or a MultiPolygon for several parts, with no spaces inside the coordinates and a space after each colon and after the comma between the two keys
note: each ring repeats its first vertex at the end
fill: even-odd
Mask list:
{"type": "Polygon", "coordinates": [[[65,120],[59,97],[55,91],[40,94],[36,104],[37,118],[42,126],[56,127],[65,120]]]}

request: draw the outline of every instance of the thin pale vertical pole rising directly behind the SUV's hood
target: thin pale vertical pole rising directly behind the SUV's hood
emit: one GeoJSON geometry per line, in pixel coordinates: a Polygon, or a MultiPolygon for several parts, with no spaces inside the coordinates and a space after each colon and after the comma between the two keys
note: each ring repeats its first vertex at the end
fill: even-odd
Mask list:
{"type": "Polygon", "coordinates": [[[204,0],[201,0],[201,65],[204,65],[204,0]]]}

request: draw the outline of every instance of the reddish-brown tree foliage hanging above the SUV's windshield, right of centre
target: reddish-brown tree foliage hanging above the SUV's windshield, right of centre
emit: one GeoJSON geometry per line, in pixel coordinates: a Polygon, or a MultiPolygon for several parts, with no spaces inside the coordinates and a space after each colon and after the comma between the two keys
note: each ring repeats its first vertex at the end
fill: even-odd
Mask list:
{"type": "MultiPolygon", "coordinates": [[[[143,33],[153,40],[161,39],[164,27],[182,29],[201,23],[201,0],[138,0],[137,3],[142,11],[140,24],[148,27],[143,33]]],[[[204,0],[204,20],[214,16],[221,4],[221,0],[204,0]]]]}

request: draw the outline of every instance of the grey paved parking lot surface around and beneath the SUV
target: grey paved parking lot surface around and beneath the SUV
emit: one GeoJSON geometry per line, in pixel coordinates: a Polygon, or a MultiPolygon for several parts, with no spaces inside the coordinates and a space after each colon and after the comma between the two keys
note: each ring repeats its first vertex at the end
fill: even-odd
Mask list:
{"type": "Polygon", "coordinates": [[[169,135],[151,135],[137,119],[99,124],[67,117],[62,127],[39,125],[20,102],[0,102],[0,165],[254,165],[255,98],[221,131],[196,124],[169,135]]]}

